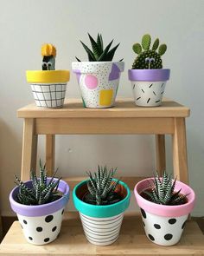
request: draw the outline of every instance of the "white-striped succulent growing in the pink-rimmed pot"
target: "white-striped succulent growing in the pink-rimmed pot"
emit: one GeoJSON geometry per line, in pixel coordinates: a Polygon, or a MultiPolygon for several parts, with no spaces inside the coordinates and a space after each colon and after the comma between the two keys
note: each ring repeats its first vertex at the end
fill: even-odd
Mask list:
{"type": "Polygon", "coordinates": [[[154,176],[153,184],[150,188],[143,191],[147,199],[160,205],[182,205],[187,201],[187,195],[181,194],[181,190],[175,192],[175,181],[172,180],[171,174],[163,172],[163,177],[160,178],[158,173],[154,176]]]}

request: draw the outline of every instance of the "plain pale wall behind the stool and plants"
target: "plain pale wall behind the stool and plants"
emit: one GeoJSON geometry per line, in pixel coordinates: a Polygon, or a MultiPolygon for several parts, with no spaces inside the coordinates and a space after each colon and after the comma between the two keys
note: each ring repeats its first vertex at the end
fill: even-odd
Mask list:
{"type": "MultiPolygon", "coordinates": [[[[119,96],[131,97],[127,69],[134,53],[132,43],[144,33],[168,44],[164,66],[171,69],[166,96],[191,108],[187,121],[190,184],[197,193],[194,215],[204,215],[204,65],[203,0],[0,0],[0,185],[3,215],[11,213],[8,195],[13,174],[20,174],[22,120],[16,109],[33,102],[25,81],[26,69],[41,69],[41,44],[54,43],[57,69],[70,69],[74,56],[86,54],[79,40],[88,43],[87,32],[98,31],[105,43],[120,42],[115,59],[124,57],[125,70],[119,96]]],[[[67,97],[80,97],[75,77],[67,97]]],[[[119,174],[150,175],[155,168],[154,140],[150,136],[59,136],[56,166],[62,175],[84,174],[97,164],[118,167],[119,174]],[[79,157],[80,156],[80,157],[79,157]]],[[[170,147],[170,140],[168,140],[170,147]]],[[[41,157],[44,155],[40,139],[41,157]]],[[[168,169],[172,169],[170,148],[168,169]]]]}

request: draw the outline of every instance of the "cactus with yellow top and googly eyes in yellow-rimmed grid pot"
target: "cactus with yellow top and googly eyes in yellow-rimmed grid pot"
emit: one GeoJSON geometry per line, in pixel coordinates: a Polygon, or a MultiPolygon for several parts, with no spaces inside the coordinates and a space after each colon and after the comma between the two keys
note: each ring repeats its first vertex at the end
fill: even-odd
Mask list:
{"type": "Polygon", "coordinates": [[[41,47],[42,70],[26,71],[27,82],[30,83],[39,108],[62,108],[66,95],[68,70],[55,70],[56,49],[51,43],[41,47]]]}

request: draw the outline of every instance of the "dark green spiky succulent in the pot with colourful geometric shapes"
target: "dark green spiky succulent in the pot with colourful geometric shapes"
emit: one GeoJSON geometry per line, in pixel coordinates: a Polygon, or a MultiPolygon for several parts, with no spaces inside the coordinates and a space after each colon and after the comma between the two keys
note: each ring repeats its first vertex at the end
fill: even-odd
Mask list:
{"type": "MultiPolygon", "coordinates": [[[[85,43],[83,43],[81,41],[80,41],[80,43],[83,45],[84,49],[86,50],[89,62],[111,62],[112,58],[115,54],[115,51],[119,46],[119,43],[115,47],[110,49],[112,46],[112,42],[113,42],[113,39],[112,39],[112,42],[109,43],[104,48],[103,38],[102,38],[101,34],[98,33],[97,40],[94,40],[92,38],[92,36],[90,36],[89,34],[88,34],[88,36],[89,36],[89,39],[90,39],[90,42],[92,45],[92,50],[89,49],[85,43]]],[[[80,62],[80,59],[78,57],[76,57],[76,59],[78,62],[80,62]]],[[[120,60],[120,61],[122,61],[122,60],[120,60]]]]}

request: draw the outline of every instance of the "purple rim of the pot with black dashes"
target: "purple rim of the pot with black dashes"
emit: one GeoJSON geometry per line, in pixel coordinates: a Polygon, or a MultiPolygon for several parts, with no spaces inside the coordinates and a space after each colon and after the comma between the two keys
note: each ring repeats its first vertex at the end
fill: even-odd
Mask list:
{"type": "Polygon", "coordinates": [[[128,78],[131,81],[168,81],[169,76],[170,69],[128,69],[128,78]]]}

